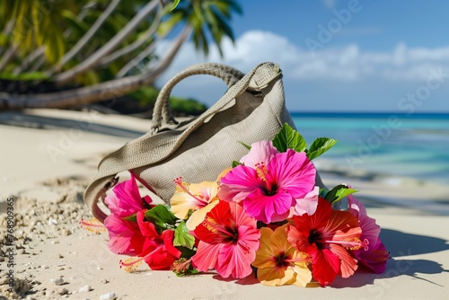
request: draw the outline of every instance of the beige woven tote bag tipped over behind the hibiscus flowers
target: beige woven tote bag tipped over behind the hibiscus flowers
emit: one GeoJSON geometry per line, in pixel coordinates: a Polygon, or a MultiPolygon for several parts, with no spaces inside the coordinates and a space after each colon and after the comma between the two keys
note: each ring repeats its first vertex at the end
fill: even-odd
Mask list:
{"type": "MultiPolygon", "coordinates": [[[[250,73],[220,64],[198,64],[175,75],[158,95],[149,131],[104,157],[98,174],[87,187],[84,202],[101,222],[107,214],[99,201],[115,183],[119,172],[132,172],[146,188],[170,204],[173,180],[216,181],[217,175],[248,153],[245,146],[270,140],[285,123],[295,128],[286,110],[282,73],[273,63],[262,63],[250,73]],[[198,117],[176,121],[169,95],[191,75],[213,75],[228,89],[198,117]]],[[[201,90],[198,90],[201,93],[201,90]]]]}

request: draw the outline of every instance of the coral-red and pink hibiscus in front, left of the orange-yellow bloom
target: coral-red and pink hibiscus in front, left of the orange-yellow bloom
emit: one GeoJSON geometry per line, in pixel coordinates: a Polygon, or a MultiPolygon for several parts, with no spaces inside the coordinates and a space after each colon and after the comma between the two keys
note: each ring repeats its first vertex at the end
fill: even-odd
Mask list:
{"type": "Polygon", "coordinates": [[[224,278],[251,274],[251,262],[259,249],[256,220],[237,203],[219,201],[193,232],[199,239],[193,266],[199,271],[216,269],[224,278]]]}

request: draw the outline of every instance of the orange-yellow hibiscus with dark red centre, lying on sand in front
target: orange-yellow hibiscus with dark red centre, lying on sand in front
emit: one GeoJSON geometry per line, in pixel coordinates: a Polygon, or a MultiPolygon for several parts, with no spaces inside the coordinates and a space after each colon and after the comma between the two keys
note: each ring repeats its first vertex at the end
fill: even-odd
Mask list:
{"type": "Polygon", "coordinates": [[[277,227],[274,232],[269,227],[260,228],[260,249],[252,265],[258,268],[257,277],[265,286],[305,287],[312,279],[307,267],[311,260],[287,241],[286,226],[277,227]]]}

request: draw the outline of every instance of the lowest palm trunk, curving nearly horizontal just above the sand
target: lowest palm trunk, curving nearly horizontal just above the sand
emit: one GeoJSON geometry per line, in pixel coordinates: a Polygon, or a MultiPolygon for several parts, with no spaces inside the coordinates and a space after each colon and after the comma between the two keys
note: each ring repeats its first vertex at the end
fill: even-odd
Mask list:
{"type": "Polygon", "coordinates": [[[163,57],[151,72],[57,93],[35,95],[0,93],[0,110],[21,110],[25,108],[60,109],[74,107],[119,97],[125,93],[135,91],[142,86],[153,84],[159,75],[170,66],[184,41],[189,38],[191,31],[191,27],[187,26],[180,33],[180,36],[173,43],[170,51],[167,52],[167,55],[163,57]]]}

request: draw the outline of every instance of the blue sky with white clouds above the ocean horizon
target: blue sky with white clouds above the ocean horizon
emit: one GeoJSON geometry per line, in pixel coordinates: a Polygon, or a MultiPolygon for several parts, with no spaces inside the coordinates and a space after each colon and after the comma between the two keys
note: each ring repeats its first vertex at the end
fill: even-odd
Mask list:
{"type": "MultiPolygon", "coordinates": [[[[243,14],[232,21],[235,43],[224,40],[224,58],[214,48],[204,57],[187,43],[159,84],[198,62],[248,72],[274,61],[292,111],[449,112],[448,1],[240,4],[243,14]]],[[[203,77],[175,89],[207,105],[224,92],[224,84],[203,77]]]]}

